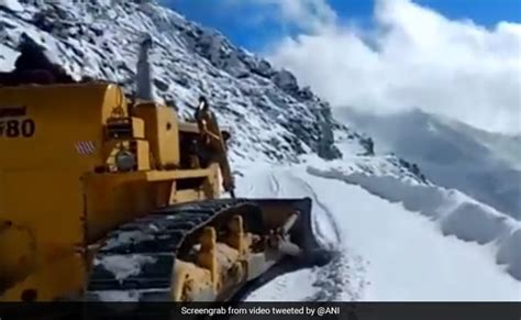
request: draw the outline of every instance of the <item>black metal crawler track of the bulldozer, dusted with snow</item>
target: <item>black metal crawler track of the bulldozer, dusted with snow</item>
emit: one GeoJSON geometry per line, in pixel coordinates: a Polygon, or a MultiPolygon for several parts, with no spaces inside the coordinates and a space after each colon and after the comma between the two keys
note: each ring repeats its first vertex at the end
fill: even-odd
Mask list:
{"type": "Polygon", "coordinates": [[[189,256],[199,231],[244,209],[248,221],[262,221],[255,208],[252,200],[204,200],[167,207],[122,224],[108,234],[95,256],[87,299],[169,300],[176,258],[189,256]]]}

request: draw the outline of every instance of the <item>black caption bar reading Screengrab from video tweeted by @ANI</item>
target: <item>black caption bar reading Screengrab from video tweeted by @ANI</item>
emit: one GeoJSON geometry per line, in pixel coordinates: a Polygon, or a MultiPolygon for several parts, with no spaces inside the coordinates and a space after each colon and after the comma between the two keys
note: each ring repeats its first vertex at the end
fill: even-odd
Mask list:
{"type": "Polygon", "coordinates": [[[0,304],[18,319],[521,320],[521,302],[0,304]]]}

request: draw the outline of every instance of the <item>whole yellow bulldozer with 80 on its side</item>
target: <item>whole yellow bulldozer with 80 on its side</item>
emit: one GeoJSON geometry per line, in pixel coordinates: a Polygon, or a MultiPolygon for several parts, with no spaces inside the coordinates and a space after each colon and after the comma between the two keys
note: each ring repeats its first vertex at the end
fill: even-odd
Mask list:
{"type": "Polygon", "coordinates": [[[141,71],[133,98],[34,67],[1,75],[0,301],[221,301],[329,261],[311,200],[235,198],[208,101],[180,121],[141,71]]]}

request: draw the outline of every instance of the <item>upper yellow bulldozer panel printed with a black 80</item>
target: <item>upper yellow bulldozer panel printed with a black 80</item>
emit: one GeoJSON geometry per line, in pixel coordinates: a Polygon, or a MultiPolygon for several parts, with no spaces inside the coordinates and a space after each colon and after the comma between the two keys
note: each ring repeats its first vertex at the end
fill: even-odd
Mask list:
{"type": "Polygon", "coordinates": [[[90,170],[103,161],[99,150],[107,118],[118,110],[126,114],[121,90],[108,84],[3,87],[0,101],[0,110],[23,111],[0,119],[0,170],[90,170]],[[9,125],[19,134],[9,136],[9,125]]]}

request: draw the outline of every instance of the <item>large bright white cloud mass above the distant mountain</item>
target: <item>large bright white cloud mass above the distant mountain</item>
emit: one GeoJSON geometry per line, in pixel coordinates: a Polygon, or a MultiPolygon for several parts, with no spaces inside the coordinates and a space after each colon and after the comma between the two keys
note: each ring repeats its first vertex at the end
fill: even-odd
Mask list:
{"type": "Polygon", "coordinates": [[[279,2],[287,16],[315,16],[313,32],[280,41],[268,56],[333,106],[418,107],[489,131],[521,132],[521,24],[488,30],[409,0],[379,0],[374,27],[361,32],[340,24],[324,1],[255,1],[279,2]],[[323,13],[284,7],[291,1],[325,7],[323,13]]]}

